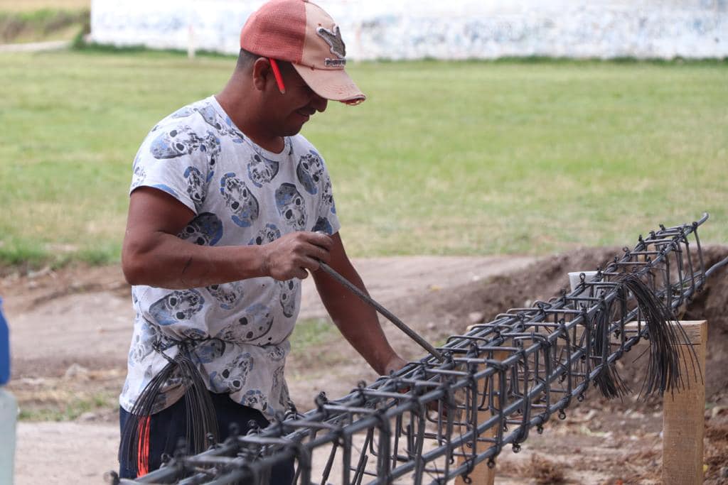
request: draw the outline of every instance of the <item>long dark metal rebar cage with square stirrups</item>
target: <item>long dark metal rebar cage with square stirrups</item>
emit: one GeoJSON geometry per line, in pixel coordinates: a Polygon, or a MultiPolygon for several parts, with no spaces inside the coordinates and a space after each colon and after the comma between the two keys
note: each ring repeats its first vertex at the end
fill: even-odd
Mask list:
{"type": "Polygon", "coordinates": [[[306,414],[179,454],[137,481],[115,481],[267,484],[273,467],[294,462],[296,484],[443,484],[457,476],[467,483],[475,465],[493,464],[507,445],[517,452],[553,414],[563,419],[590,385],[606,396],[625,393],[614,362],[641,339],[650,344],[641,392],[683,388],[702,376],[670,361],[686,348],[674,345],[684,335],[679,326],[659,327],[646,300],[674,315],[703,286],[697,228],[707,218],[661,225],[574,292],[450,337],[438,348],[445,361],[427,356],[335,401],[322,394],[306,414]],[[625,326],[630,321],[638,323],[625,326]]]}

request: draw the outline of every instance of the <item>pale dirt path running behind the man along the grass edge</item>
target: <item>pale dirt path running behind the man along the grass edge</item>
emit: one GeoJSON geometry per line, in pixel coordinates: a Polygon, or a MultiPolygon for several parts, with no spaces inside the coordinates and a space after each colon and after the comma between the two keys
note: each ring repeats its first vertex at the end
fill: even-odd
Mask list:
{"type": "MultiPolygon", "coordinates": [[[[355,260],[355,265],[372,296],[395,311],[413,297],[438,297],[462,284],[525,268],[533,260],[398,257],[355,260]]],[[[4,278],[0,294],[12,326],[15,377],[59,377],[74,363],[95,370],[125,365],[133,311],[118,266],[4,278]]],[[[303,294],[299,318],[325,316],[312,278],[304,280],[303,294]]],[[[400,318],[421,316],[409,311],[400,318]]]]}

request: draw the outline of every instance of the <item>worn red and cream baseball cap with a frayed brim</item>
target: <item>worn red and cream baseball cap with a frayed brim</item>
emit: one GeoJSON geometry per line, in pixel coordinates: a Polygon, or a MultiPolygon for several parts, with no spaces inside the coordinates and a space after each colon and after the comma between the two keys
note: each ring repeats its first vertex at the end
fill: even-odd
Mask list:
{"type": "Polygon", "coordinates": [[[308,0],[272,0],[253,12],[240,31],[240,48],[285,60],[320,97],[356,105],[366,99],[344,66],[347,50],[339,25],[308,0]]]}

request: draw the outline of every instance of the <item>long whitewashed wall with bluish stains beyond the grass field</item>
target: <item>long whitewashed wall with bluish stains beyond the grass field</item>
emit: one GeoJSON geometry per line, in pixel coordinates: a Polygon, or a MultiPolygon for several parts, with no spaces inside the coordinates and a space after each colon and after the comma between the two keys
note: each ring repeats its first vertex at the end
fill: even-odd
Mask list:
{"type": "MultiPolygon", "coordinates": [[[[261,0],[92,0],[91,39],[234,53],[261,0]]],[[[728,57],[728,0],[318,0],[349,59],[728,57]]]]}

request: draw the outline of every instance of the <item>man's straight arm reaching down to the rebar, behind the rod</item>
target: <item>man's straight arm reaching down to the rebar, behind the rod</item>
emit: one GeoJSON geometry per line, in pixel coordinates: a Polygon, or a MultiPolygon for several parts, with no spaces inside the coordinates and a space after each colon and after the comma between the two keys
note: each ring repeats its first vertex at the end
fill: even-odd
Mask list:
{"type": "MultiPolygon", "coordinates": [[[[333,244],[329,249],[331,260],[328,265],[366,292],[359,273],[344,251],[339,233],[331,236],[331,240],[333,244]]],[[[387,342],[387,337],[379,326],[376,310],[323,271],[315,271],[312,274],[321,301],[333,322],[376,372],[387,375],[407,364],[387,342]]]]}

